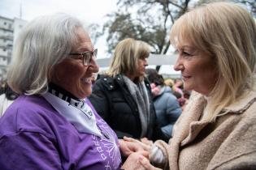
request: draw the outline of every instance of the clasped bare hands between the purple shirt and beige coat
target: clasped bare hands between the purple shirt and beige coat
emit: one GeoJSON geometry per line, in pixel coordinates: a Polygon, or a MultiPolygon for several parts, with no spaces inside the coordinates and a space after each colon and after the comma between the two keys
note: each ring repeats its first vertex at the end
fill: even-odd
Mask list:
{"type": "Polygon", "coordinates": [[[124,157],[128,157],[122,168],[125,170],[158,170],[150,164],[150,150],[153,142],[147,138],[141,138],[141,141],[124,137],[119,139],[120,151],[124,157]]]}

